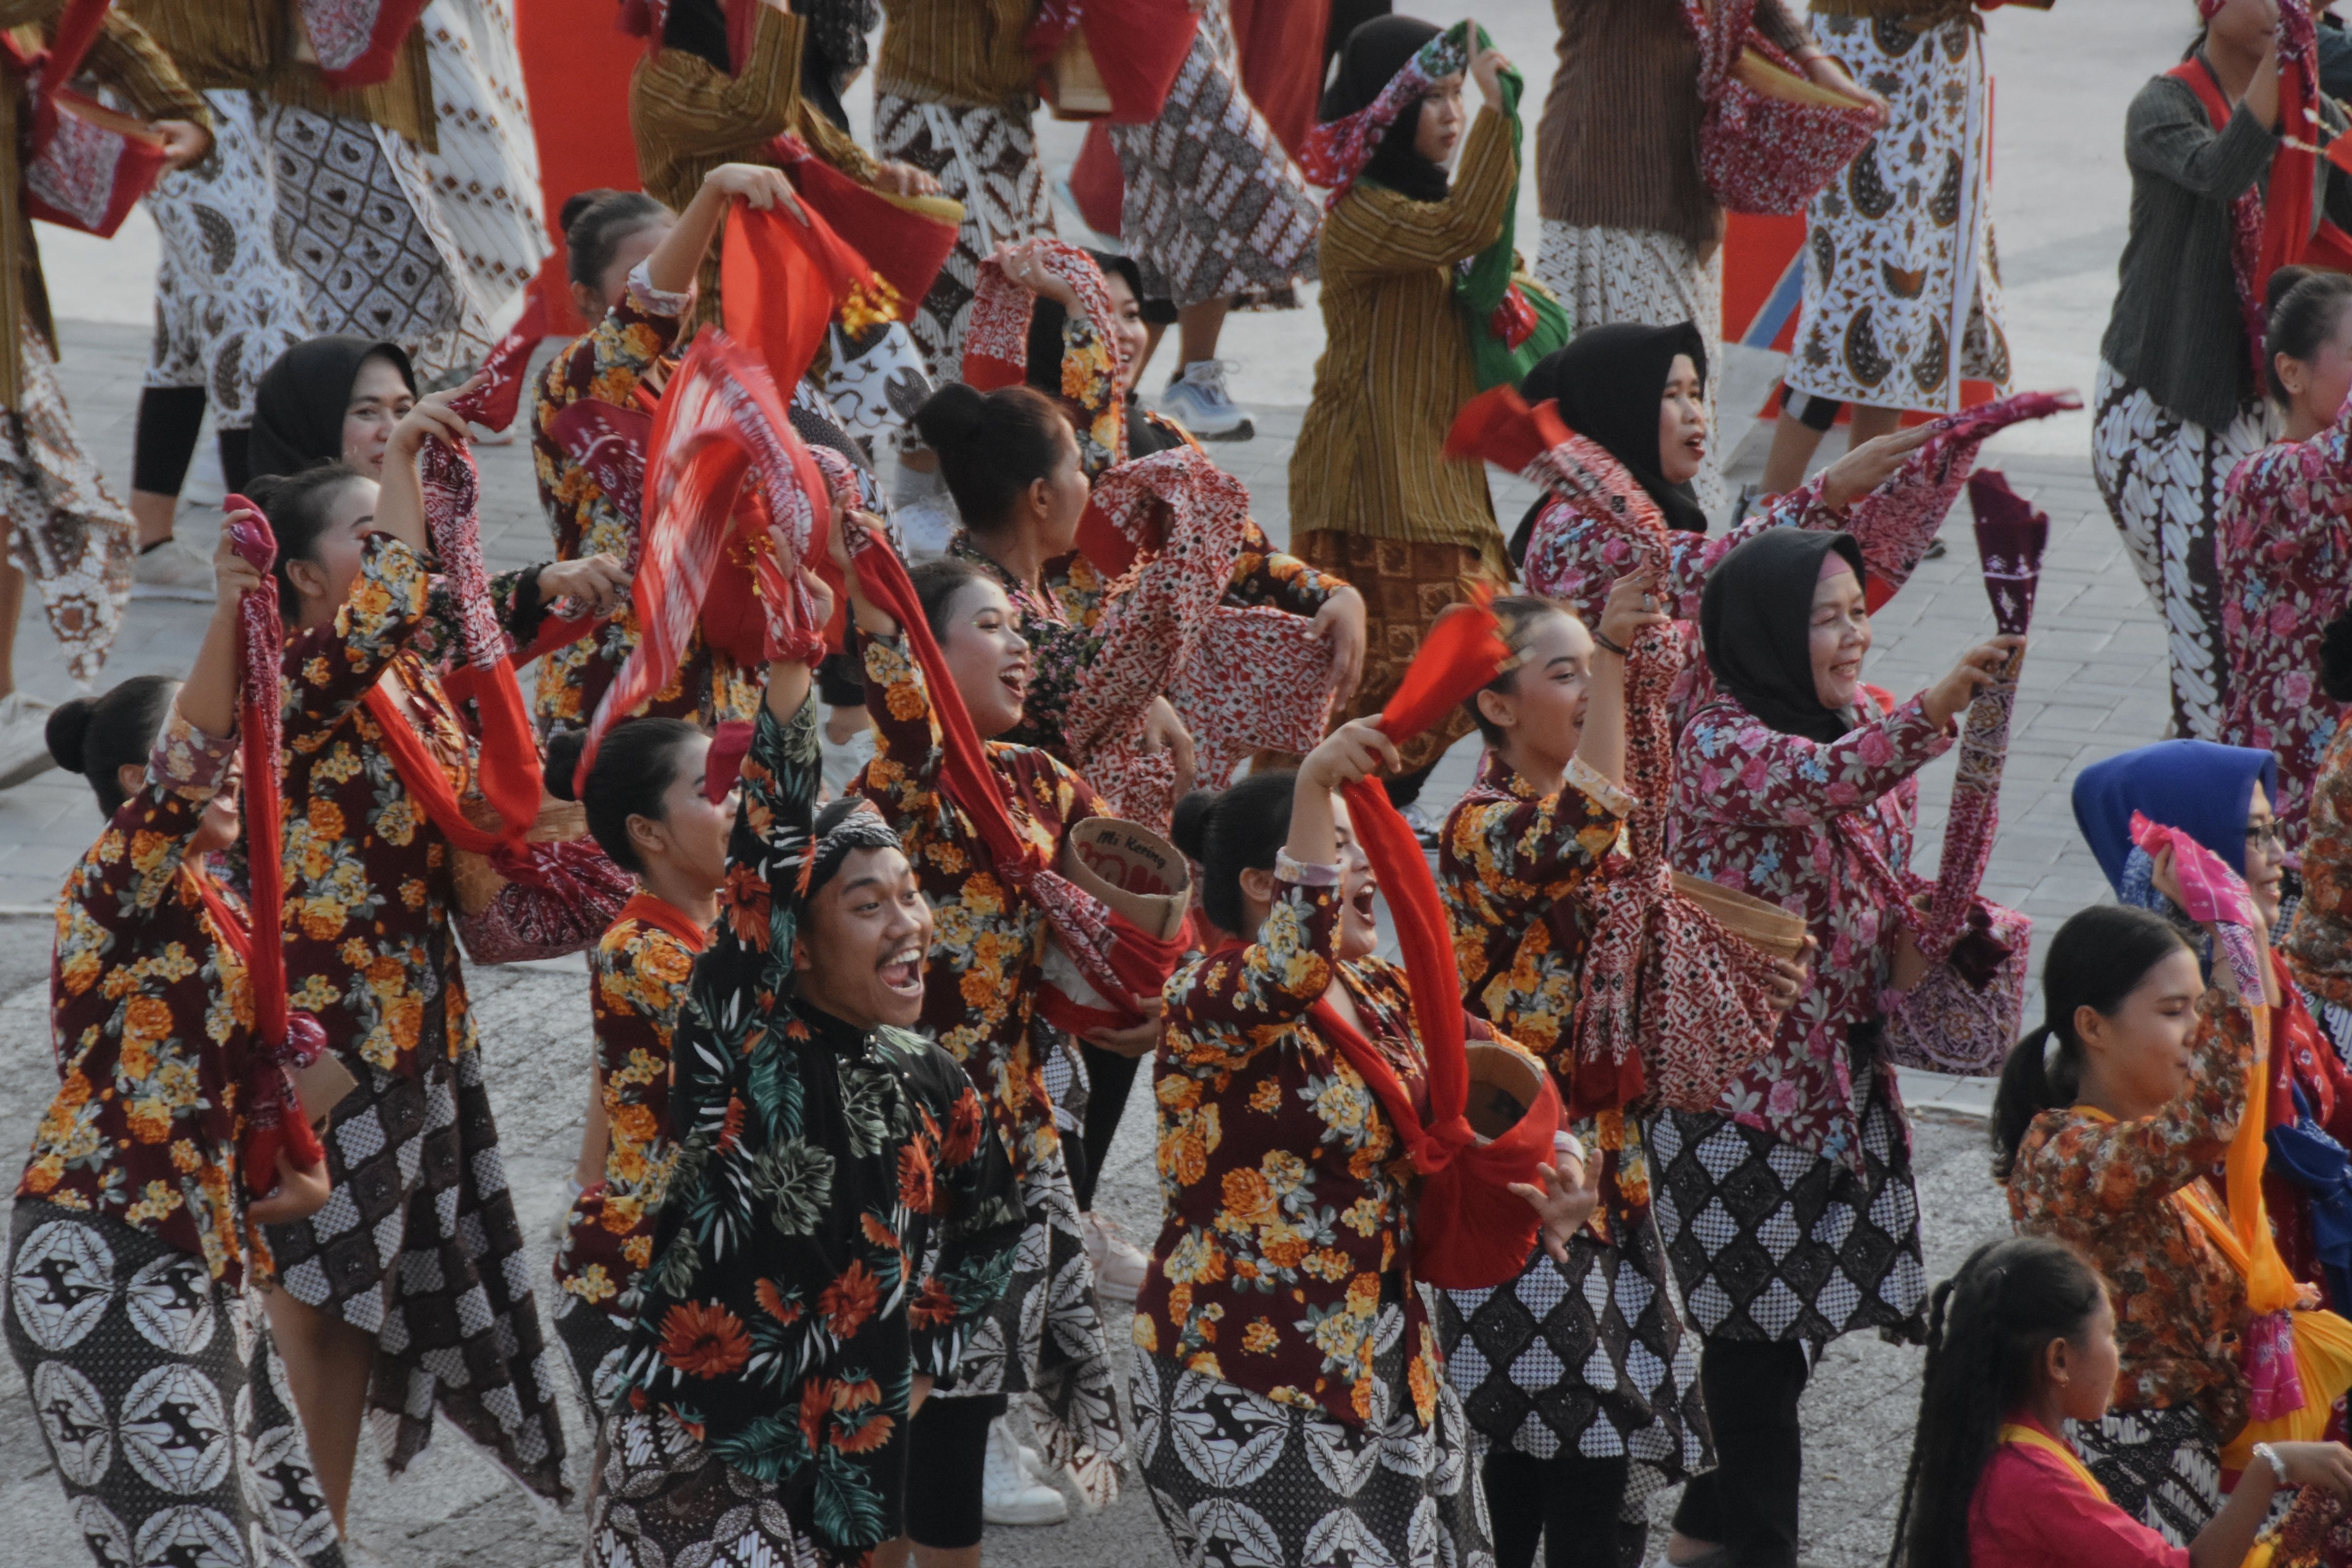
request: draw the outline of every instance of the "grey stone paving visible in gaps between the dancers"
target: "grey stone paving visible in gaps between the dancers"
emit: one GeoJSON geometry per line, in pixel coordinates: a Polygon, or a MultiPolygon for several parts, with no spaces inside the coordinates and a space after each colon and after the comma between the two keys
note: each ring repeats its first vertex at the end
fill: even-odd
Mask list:
{"type": "MultiPolygon", "coordinates": [[[[64,324],[66,386],[82,437],[115,484],[127,484],[129,423],[136,402],[146,334],[122,324],[64,324]]],[[[1298,409],[1256,409],[1258,437],[1228,444],[1218,456],[1249,484],[1258,515],[1287,536],[1284,463],[1296,437],[1298,409]]],[[[1759,463],[1755,442],[1733,461],[1743,475],[1759,463]]],[[[532,496],[529,451],[485,447],[485,545],[492,567],[543,557],[546,534],[532,496]]],[[[2122,545],[2091,487],[2086,461],[2013,456],[2016,487],[2051,512],[2053,538],[2042,576],[2039,630],[2025,663],[2018,726],[2011,748],[2004,825],[1994,846],[1987,893],[2037,919],[2046,938],[2056,924],[2103,896],[2098,867],[2072,830],[2065,785],[2086,764],[2152,741],[2164,729],[2164,649],[2154,616],[2124,559],[2122,545]]],[[[1515,520],[1529,491],[1496,475],[1496,510],[1515,520]]],[[[209,548],[216,512],[191,505],[183,534],[209,548]]],[[[1992,618],[1978,585],[1964,517],[1947,527],[1950,555],[1929,562],[1877,618],[1870,677],[1910,691],[1950,668],[1952,658],[1990,632],[1992,618]]],[[[198,604],[136,602],[108,677],[146,670],[186,670],[205,621],[198,604]]],[[[19,635],[26,686],[66,696],[71,684],[38,621],[19,635]]],[[[1472,748],[1458,748],[1432,783],[1432,806],[1444,806],[1472,769],[1472,748]]],[[[1919,870],[1933,872],[1943,802],[1952,762],[1929,769],[1922,788],[1919,870]]],[[[31,1124],[54,1086],[45,1027],[47,910],[56,882],[96,827],[80,780],[49,773],[0,792],[0,905],[28,917],[0,919],[0,1147],[24,1147],[31,1124]]],[[[588,1093],[586,973],[574,961],[480,969],[470,978],[501,1119],[517,1206],[546,1279],[548,1225],[560,1206],[560,1182],[579,1140],[588,1093]]],[[[1924,1100],[1966,1112],[1980,1086],[1922,1084],[1924,1100]]],[[[1917,1119],[1922,1204],[1929,1215],[1931,1272],[1950,1272],[1964,1251],[2002,1225],[1999,1192],[1985,1173],[1983,1131],[1966,1114],[1929,1110],[1917,1119]]],[[[1150,1159],[1150,1100],[1136,1095],[1108,1161],[1101,1206],[1129,1234],[1157,1229],[1150,1159]]],[[[1809,1559],[1839,1568],[1877,1563],[1886,1552],[1907,1429],[1917,1399],[1917,1352],[1870,1338],[1828,1349],[1806,1396],[1806,1537],[1809,1559]]],[[[572,1446],[586,1462],[583,1427],[572,1422],[572,1446]]],[[[0,1516],[12,1521],[14,1561],[78,1561],[64,1493],[49,1472],[38,1422],[16,1378],[0,1378],[0,1516]]],[[[576,1561],[579,1509],[536,1507],[463,1439],[445,1434],[416,1467],[390,1481],[362,1460],[353,1502],[360,1561],[400,1568],[480,1563],[534,1568],[576,1561]]],[[[1023,1568],[1082,1568],[1169,1563],[1167,1540],[1138,1490],[1091,1519],[1056,1528],[990,1530],[990,1563],[1023,1568]]]]}

